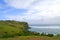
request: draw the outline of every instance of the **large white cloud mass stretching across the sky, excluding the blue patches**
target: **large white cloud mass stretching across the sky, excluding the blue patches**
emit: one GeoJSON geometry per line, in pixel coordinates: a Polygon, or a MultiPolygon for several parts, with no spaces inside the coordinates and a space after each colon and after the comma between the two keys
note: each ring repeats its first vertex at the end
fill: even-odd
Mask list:
{"type": "Polygon", "coordinates": [[[24,16],[8,16],[14,20],[25,20],[30,24],[60,24],[60,0],[5,0],[16,9],[27,9],[24,16]],[[16,17],[17,16],[17,17],[16,17]]]}

